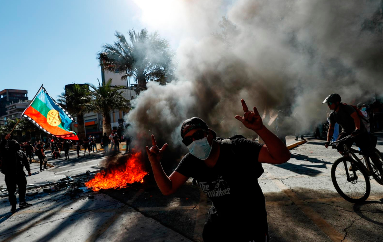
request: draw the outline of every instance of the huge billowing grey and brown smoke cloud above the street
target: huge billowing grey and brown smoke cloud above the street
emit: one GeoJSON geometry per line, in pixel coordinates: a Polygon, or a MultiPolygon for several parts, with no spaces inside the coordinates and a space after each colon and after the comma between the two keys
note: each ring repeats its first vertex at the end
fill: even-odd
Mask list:
{"type": "Polygon", "coordinates": [[[178,2],[178,19],[168,17],[164,27],[165,36],[180,39],[175,80],[148,83],[126,118],[137,148],[150,146],[153,133],[179,157],[187,151],[180,125],[194,116],[218,136],[249,137],[252,131],[234,119],[243,114],[241,99],[261,115],[297,113],[311,130],[326,119],[322,101],[329,94],[356,104],[383,93],[381,0],[178,2]],[[223,15],[236,27],[229,44],[212,34],[223,15]]]}

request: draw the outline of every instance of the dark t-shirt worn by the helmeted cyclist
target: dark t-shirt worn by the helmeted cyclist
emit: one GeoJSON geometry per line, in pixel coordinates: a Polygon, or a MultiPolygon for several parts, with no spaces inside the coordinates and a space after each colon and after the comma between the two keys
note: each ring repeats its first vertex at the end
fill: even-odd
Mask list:
{"type": "MultiPolygon", "coordinates": [[[[351,105],[340,104],[338,113],[333,110],[329,116],[330,124],[335,124],[336,122],[342,127],[342,131],[345,133],[352,133],[355,130],[355,122],[351,117],[356,110],[351,105]]],[[[366,127],[361,120],[361,133],[366,131],[366,127]]]]}

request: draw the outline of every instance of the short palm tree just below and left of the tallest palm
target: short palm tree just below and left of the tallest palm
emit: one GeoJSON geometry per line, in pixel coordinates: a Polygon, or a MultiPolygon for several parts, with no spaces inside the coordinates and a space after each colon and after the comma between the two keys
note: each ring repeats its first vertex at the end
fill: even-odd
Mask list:
{"type": "MultiPolygon", "coordinates": [[[[98,80],[98,79],[97,79],[98,80]]],[[[107,134],[111,131],[110,124],[110,111],[127,110],[129,100],[122,96],[125,89],[124,86],[112,86],[112,79],[110,78],[106,83],[100,84],[98,80],[98,87],[94,84],[88,83],[91,90],[91,102],[87,104],[87,109],[102,115],[102,132],[107,134]]]]}

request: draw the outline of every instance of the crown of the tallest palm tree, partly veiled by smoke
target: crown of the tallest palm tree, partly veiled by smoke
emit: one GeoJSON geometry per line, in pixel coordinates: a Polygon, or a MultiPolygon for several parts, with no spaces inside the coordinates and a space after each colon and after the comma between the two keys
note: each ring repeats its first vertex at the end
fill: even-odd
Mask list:
{"type": "Polygon", "coordinates": [[[118,31],[114,35],[118,40],[113,45],[104,44],[103,51],[97,53],[97,59],[106,70],[126,72],[121,80],[135,78],[137,94],[146,90],[150,79],[173,74],[174,52],[169,48],[169,42],[161,39],[157,32],[148,34],[145,28],[141,32],[129,30],[130,42],[118,31]]]}

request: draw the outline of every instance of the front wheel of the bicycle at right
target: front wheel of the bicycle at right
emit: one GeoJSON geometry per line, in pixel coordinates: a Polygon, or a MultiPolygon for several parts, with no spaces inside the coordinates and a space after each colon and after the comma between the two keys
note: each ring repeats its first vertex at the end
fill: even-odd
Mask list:
{"type": "Polygon", "coordinates": [[[343,157],[337,159],[331,167],[331,179],[342,198],[351,203],[361,203],[370,196],[370,179],[361,164],[353,161],[352,166],[355,173],[349,171],[350,161],[343,157]]]}

